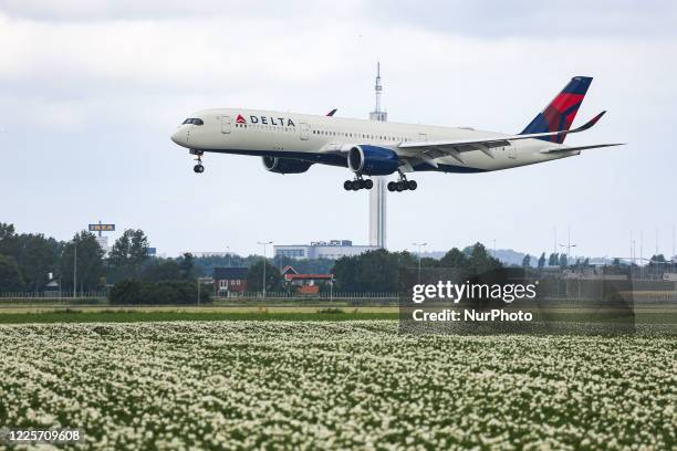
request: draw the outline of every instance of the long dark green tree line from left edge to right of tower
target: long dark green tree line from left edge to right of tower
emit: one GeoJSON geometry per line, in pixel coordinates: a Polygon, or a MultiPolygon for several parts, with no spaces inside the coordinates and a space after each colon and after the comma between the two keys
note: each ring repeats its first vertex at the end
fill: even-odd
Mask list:
{"type": "MultiPolygon", "coordinates": [[[[418,256],[410,252],[386,250],[369,251],[335,261],[275,256],[265,259],[265,262],[258,255],[243,258],[236,254],[196,259],[187,253],[177,259],[162,259],[148,256],[147,251],[148,238],[138,229],[125,230],[105,255],[96,235],[88,231],[75,233],[70,241],[59,241],[41,233],[18,233],[13,224],[0,223],[0,292],[41,292],[50,282],[49,274],[52,274],[53,279],[60,282],[63,292],[72,293],[74,281],[77,293],[123,283],[122,286],[127,286],[128,293],[143,292],[146,297],[155,300],[157,293],[166,291],[167,286],[174,286],[166,283],[195,283],[199,276],[211,275],[217,266],[249,268],[248,290],[253,292],[262,290],[263,264],[268,291],[285,290],[281,270],[293,265],[302,273],[333,273],[334,289],[338,291],[395,292],[399,286],[399,270],[419,264],[418,256]],[[139,283],[155,284],[155,289],[150,285],[142,286],[139,283]]],[[[483,272],[500,268],[501,263],[492,258],[482,244],[476,243],[464,250],[451,249],[439,260],[423,258],[420,265],[455,266],[483,272]]],[[[126,296],[119,291],[116,295],[119,298],[126,296]]],[[[181,297],[183,294],[177,296],[181,297]]]]}

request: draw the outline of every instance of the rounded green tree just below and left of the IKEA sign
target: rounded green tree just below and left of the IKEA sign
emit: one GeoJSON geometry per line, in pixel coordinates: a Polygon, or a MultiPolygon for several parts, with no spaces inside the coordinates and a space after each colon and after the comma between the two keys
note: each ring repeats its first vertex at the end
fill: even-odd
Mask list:
{"type": "Polygon", "coordinates": [[[96,237],[83,230],[65,243],[61,254],[61,283],[64,289],[73,286],[74,271],[79,292],[93,291],[103,285],[105,274],[104,251],[96,237]]]}

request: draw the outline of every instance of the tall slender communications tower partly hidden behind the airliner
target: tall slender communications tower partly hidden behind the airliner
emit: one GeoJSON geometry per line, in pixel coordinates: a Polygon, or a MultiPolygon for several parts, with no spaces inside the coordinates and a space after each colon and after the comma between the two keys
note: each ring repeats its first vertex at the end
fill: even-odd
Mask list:
{"type": "MultiPolygon", "coordinates": [[[[388,114],[381,106],[381,63],[376,63],[376,107],[369,113],[371,120],[388,119],[388,114]]],[[[386,247],[386,178],[372,177],[374,188],[369,190],[369,245],[386,247]]]]}

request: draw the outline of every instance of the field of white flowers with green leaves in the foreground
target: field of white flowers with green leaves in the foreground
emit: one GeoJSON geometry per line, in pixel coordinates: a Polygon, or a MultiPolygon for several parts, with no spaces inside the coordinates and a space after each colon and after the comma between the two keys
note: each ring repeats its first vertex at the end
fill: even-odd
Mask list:
{"type": "Polygon", "coordinates": [[[677,445],[674,337],[55,324],[0,326],[0,427],[81,428],[86,448],[677,445]]]}

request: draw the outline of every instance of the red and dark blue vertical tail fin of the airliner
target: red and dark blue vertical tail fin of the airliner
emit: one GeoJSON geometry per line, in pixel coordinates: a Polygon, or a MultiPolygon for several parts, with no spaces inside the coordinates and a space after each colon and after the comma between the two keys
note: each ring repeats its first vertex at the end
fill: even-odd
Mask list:
{"type": "MultiPolygon", "coordinates": [[[[520,135],[569,130],[591,83],[591,76],[571,78],[564,90],[529,123],[520,135]]],[[[562,144],[565,137],[566,135],[553,135],[538,139],[562,144]]]]}

